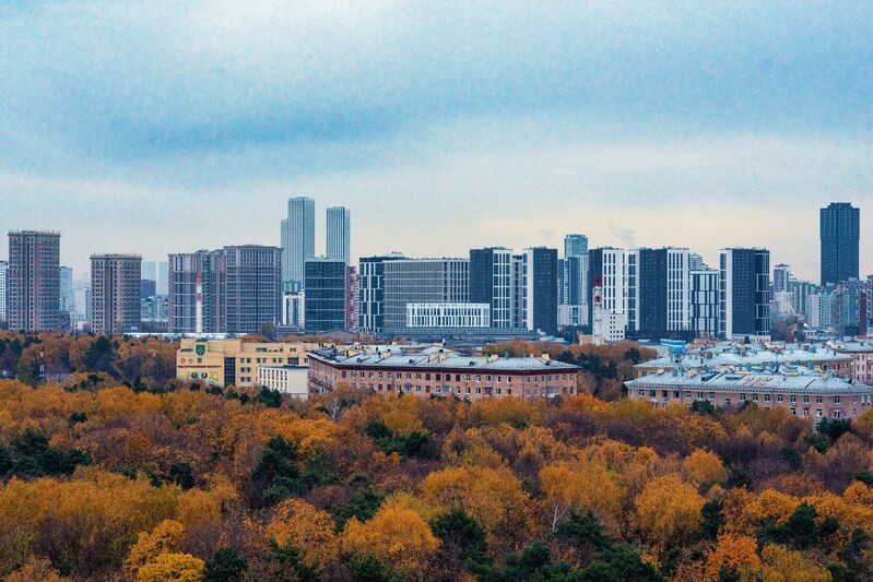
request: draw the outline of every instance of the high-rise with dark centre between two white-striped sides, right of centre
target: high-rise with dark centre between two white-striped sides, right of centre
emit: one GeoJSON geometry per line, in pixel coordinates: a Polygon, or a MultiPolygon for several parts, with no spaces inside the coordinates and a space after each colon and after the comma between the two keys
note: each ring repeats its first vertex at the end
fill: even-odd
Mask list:
{"type": "Polygon", "coordinates": [[[658,338],[691,326],[688,249],[635,249],[627,253],[627,329],[658,338]]]}

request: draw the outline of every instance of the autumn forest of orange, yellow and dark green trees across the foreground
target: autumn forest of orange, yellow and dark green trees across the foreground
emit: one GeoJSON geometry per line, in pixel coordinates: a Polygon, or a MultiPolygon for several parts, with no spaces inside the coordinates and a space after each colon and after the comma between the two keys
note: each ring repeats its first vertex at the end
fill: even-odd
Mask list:
{"type": "Polygon", "coordinates": [[[0,577],[873,579],[871,413],[653,408],[632,344],[493,346],[586,394],[472,404],[179,382],[175,349],[0,332],[0,577]]]}

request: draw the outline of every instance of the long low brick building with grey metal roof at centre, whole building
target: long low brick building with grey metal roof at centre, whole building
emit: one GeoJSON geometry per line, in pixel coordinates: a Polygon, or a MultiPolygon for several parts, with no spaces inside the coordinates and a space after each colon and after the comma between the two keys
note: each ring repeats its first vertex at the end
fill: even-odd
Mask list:
{"type": "Polygon", "coordinates": [[[577,393],[579,370],[547,356],[462,356],[440,347],[397,345],[329,348],[309,354],[309,392],[346,385],[376,393],[453,395],[471,401],[555,399],[577,393]]]}

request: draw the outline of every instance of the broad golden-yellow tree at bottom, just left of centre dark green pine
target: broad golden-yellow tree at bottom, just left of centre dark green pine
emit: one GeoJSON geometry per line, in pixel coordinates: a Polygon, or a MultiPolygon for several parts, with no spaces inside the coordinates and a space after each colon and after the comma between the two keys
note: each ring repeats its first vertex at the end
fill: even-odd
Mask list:
{"type": "Polygon", "coordinates": [[[430,527],[402,503],[386,503],[365,523],[352,518],[343,528],[341,543],[346,554],[373,554],[413,578],[422,575],[439,549],[439,539],[430,527]]]}

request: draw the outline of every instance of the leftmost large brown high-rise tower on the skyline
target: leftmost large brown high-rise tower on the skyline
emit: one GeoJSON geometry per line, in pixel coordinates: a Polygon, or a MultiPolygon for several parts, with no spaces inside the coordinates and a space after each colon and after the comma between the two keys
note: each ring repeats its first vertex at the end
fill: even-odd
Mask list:
{"type": "Polygon", "coordinates": [[[9,328],[54,331],[60,325],[60,233],[9,233],[9,328]]]}

